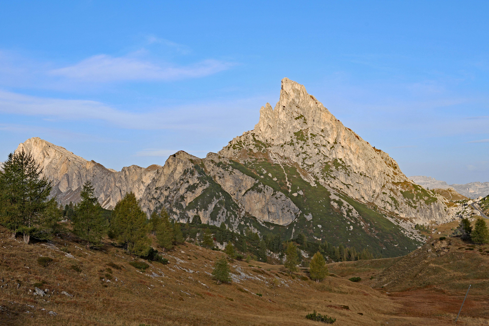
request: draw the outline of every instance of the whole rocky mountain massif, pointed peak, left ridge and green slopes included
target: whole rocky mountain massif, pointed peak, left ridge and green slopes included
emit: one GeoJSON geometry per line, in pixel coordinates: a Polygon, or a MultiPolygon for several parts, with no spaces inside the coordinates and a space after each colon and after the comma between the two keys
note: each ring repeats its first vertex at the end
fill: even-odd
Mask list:
{"type": "Polygon", "coordinates": [[[387,256],[420,245],[414,224],[451,218],[443,196],[408,179],[387,153],[287,78],[279,102],[261,108],[254,130],[205,158],[179,151],[164,166],[117,172],[40,138],[22,149],[41,163],[63,204],[76,202],[90,180],[107,209],[132,191],[148,214],[165,207],[181,222],[198,215],[203,223],[285,239],[302,232],[387,256]]]}

